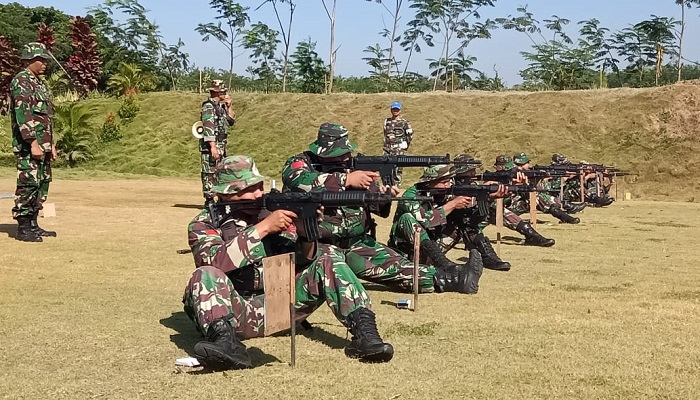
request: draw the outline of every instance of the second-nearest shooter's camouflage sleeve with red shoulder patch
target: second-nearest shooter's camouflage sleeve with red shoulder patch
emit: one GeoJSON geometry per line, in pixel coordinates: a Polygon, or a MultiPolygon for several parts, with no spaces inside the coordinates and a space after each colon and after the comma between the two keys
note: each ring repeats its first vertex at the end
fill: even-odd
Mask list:
{"type": "Polygon", "coordinates": [[[296,191],[314,190],[340,191],[345,189],[347,174],[342,172],[321,173],[311,169],[303,156],[291,157],[282,169],[282,182],[285,188],[296,191]]]}

